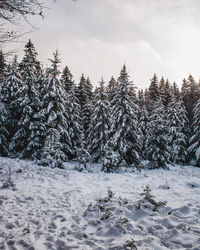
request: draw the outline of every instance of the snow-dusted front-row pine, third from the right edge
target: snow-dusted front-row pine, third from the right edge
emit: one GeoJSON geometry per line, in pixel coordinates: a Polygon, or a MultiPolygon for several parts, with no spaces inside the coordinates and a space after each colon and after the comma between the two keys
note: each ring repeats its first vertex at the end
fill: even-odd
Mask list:
{"type": "Polygon", "coordinates": [[[165,108],[162,103],[158,102],[150,117],[150,129],[148,131],[148,145],[146,156],[150,161],[151,169],[164,168],[167,169],[169,162],[169,135],[166,123],[165,108]]]}

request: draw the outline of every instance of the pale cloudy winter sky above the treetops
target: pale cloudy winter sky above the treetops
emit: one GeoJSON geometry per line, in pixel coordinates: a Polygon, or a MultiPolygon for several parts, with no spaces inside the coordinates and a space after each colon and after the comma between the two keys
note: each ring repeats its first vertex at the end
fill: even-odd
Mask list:
{"type": "Polygon", "coordinates": [[[38,29],[16,46],[23,50],[30,38],[45,66],[58,49],[60,70],[67,65],[76,82],[82,73],[94,86],[108,82],[124,63],[139,89],[154,73],[179,86],[189,74],[199,81],[199,0],[43,1],[44,20],[32,18],[38,29]]]}

